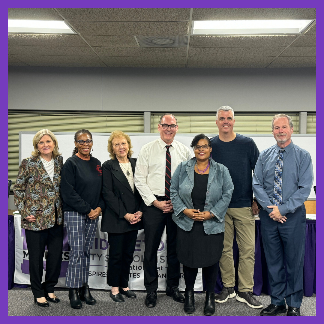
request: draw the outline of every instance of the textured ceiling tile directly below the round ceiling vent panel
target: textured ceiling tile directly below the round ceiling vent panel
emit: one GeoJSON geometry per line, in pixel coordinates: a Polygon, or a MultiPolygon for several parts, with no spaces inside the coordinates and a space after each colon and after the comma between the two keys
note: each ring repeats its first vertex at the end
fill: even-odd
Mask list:
{"type": "Polygon", "coordinates": [[[172,47],[93,47],[101,56],[186,56],[186,48],[172,47]]]}

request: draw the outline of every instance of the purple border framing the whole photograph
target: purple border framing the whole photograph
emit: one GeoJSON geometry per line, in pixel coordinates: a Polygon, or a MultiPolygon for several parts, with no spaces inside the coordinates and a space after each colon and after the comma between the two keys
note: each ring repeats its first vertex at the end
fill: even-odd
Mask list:
{"type": "MultiPolygon", "coordinates": [[[[0,37],[1,37],[1,44],[3,44],[3,48],[4,50],[1,52],[1,56],[3,57],[3,59],[1,60],[1,65],[0,65],[0,69],[1,69],[1,81],[3,83],[3,86],[1,87],[1,93],[2,93],[2,110],[1,110],[1,115],[2,115],[2,127],[3,129],[5,129],[5,135],[4,137],[7,139],[7,128],[8,128],[8,123],[7,123],[7,90],[8,90],[8,86],[7,86],[7,53],[5,48],[7,48],[7,35],[6,35],[6,30],[7,30],[7,23],[6,23],[6,19],[7,19],[7,8],[8,7],[16,7],[16,8],[24,8],[24,7],[29,7],[29,8],[44,8],[44,7],[50,7],[49,4],[52,4],[54,7],[66,7],[66,8],[77,8],[77,7],[88,7],[89,6],[89,1],[51,1],[50,3],[47,3],[46,6],[44,6],[44,1],[30,1],[30,2],[25,2],[25,1],[15,1],[15,2],[9,2],[9,1],[4,1],[0,6],[1,6],[1,10],[0,10],[0,17],[2,18],[0,20],[0,24],[2,25],[2,32],[0,33],[0,37]],[[27,6],[28,5],[28,6],[27,6]]],[[[284,0],[284,1],[271,1],[268,2],[268,4],[266,2],[260,3],[260,1],[227,1],[225,3],[226,6],[222,6],[223,4],[219,4],[215,1],[208,1],[205,0],[199,3],[199,7],[201,8],[213,8],[213,7],[219,7],[219,8],[304,8],[304,7],[308,7],[308,8],[317,8],[317,17],[318,20],[322,18],[323,16],[323,4],[320,1],[300,1],[300,0],[296,0],[296,1],[291,1],[291,0],[284,0]]],[[[193,1],[159,1],[158,3],[155,3],[155,6],[152,6],[152,1],[123,1],[123,2],[119,2],[119,1],[96,1],[95,3],[91,2],[91,6],[93,7],[110,7],[110,8],[133,8],[133,7],[137,7],[137,8],[152,8],[152,7],[160,7],[160,8],[188,8],[188,7],[197,7],[197,2],[193,2],[193,1]]],[[[317,42],[317,51],[318,53],[321,53],[321,49],[323,47],[323,43],[322,43],[322,37],[321,37],[321,32],[323,30],[321,21],[319,20],[317,23],[317,30],[318,30],[318,42],[317,42]]],[[[323,75],[322,75],[322,70],[323,69],[323,63],[322,60],[318,60],[317,61],[317,88],[318,89],[323,89],[321,88],[321,86],[323,87],[322,83],[323,83],[323,75]]],[[[317,102],[321,103],[323,101],[323,95],[321,94],[320,91],[318,91],[317,93],[317,102]]],[[[317,111],[317,120],[320,121],[321,118],[323,117],[323,112],[321,110],[317,111]]],[[[321,134],[323,134],[323,129],[319,128],[317,129],[317,145],[318,148],[321,147],[320,142],[318,140],[318,138],[321,138],[321,134]]],[[[6,182],[6,178],[7,178],[7,150],[5,150],[5,156],[4,159],[1,160],[1,165],[3,165],[2,170],[5,170],[3,172],[4,173],[4,177],[1,178],[1,186],[0,186],[0,190],[2,193],[3,197],[6,197],[7,195],[7,187],[5,186],[5,182],[6,182]]],[[[317,155],[318,155],[318,161],[322,160],[322,152],[321,150],[317,150],[317,155]]],[[[317,182],[320,182],[320,179],[323,179],[323,171],[321,170],[321,168],[318,167],[318,172],[317,172],[317,182]]],[[[319,196],[322,196],[322,188],[318,187],[317,188],[317,192],[319,193],[319,196]]],[[[320,207],[320,204],[318,204],[318,209],[320,207]]],[[[3,217],[5,215],[5,210],[3,211],[3,217]]],[[[319,229],[322,230],[323,229],[323,220],[321,219],[321,217],[318,217],[317,219],[317,223],[319,226],[319,229]]],[[[4,235],[0,236],[0,239],[2,241],[2,246],[5,247],[4,248],[4,253],[5,253],[5,263],[4,266],[1,267],[1,273],[3,278],[6,278],[7,276],[7,231],[6,228],[2,228],[2,231],[4,232],[4,235]]],[[[318,236],[317,238],[317,243],[319,243],[320,245],[320,249],[318,249],[318,258],[317,258],[317,273],[318,278],[317,278],[317,291],[319,292],[317,295],[317,304],[318,305],[323,305],[322,301],[323,301],[323,296],[321,293],[321,288],[323,288],[323,276],[322,276],[322,272],[321,272],[321,268],[323,265],[323,260],[321,258],[321,255],[323,253],[321,253],[321,243],[324,240],[324,236],[318,236]]],[[[6,282],[6,280],[5,280],[6,282]]],[[[5,291],[5,286],[3,284],[3,294],[1,294],[1,299],[2,299],[2,303],[1,303],[1,314],[2,314],[2,318],[4,321],[6,320],[10,320],[10,321],[20,321],[20,318],[16,318],[16,317],[10,317],[8,319],[6,319],[6,317],[8,316],[8,312],[7,312],[7,293],[5,291]]],[[[144,305],[143,305],[144,307],[144,305]]],[[[180,315],[180,314],[179,314],[180,315]]],[[[321,314],[318,314],[316,317],[312,318],[312,321],[317,322],[318,320],[320,320],[320,318],[322,318],[323,316],[321,314]]],[[[62,316],[62,318],[66,318],[64,321],[68,321],[69,319],[75,318],[79,323],[87,323],[87,321],[89,320],[88,318],[84,318],[84,317],[74,317],[74,316],[62,316]]],[[[91,318],[91,320],[96,320],[96,319],[100,319],[102,318],[102,316],[98,316],[96,318],[91,318]]],[[[116,316],[116,319],[118,319],[119,317],[116,316]]],[[[201,317],[200,317],[201,318],[201,317]]],[[[246,323],[251,323],[251,322],[256,322],[258,321],[257,319],[258,317],[242,317],[239,319],[239,321],[241,322],[246,322],[246,323]],[[253,319],[254,318],[254,319],[253,319]]],[[[115,318],[114,318],[115,319],[115,318]]],[[[177,320],[179,320],[180,318],[177,316],[174,317],[168,317],[168,319],[166,318],[158,318],[158,317],[150,317],[150,316],[143,316],[143,317],[139,317],[139,316],[134,316],[134,317],[130,317],[130,320],[133,322],[140,322],[141,323],[149,323],[149,321],[155,321],[155,322],[163,322],[165,320],[171,321],[171,322],[176,322],[177,320]]],[[[24,321],[24,323],[26,322],[32,322],[32,323],[37,323],[37,322],[44,322],[46,320],[53,320],[52,317],[50,316],[44,316],[44,317],[33,317],[33,316],[29,316],[29,317],[25,317],[22,319],[24,321]]],[[[196,321],[197,318],[196,317],[186,317],[186,321],[188,323],[193,323],[194,321],[196,321]]],[[[203,322],[213,322],[215,320],[215,317],[204,317],[201,318],[201,320],[203,322]]],[[[222,320],[226,320],[226,321],[230,321],[230,322],[234,322],[237,321],[237,317],[222,317],[222,320]]],[[[260,318],[259,318],[260,320],[260,318]]],[[[283,321],[284,318],[283,317],[277,317],[276,321],[283,321]]],[[[292,321],[292,319],[285,319],[285,321],[292,321]]],[[[302,318],[299,319],[300,321],[303,321],[302,318]]],[[[298,319],[295,319],[295,321],[299,321],[298,319]]],[[[304,319],[307,320],[307,319],[304,319]]],[[[323,320],[323,319],[322,319],[323,320]]],[[[274,319],[271,318],[264,318],[262,317],[262,321],[271,321],[273,322],[274,319]]]]}

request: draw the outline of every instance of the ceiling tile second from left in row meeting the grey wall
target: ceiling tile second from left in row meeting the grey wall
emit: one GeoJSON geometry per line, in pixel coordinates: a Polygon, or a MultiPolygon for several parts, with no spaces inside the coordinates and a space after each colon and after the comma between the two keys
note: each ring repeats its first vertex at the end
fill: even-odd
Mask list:
{"type": "Polygon", "coordinates": [[[45,55],[13,55],[31,66],[94,66],[106,65],[98,56],[45,56],[45,55]]]}

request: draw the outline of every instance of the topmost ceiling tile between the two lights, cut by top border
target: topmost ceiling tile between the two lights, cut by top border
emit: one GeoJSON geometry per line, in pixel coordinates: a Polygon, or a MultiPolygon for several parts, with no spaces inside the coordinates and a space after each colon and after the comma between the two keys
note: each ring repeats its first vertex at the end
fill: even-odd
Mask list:
{"type": "Polygon", "coordinates": [[[67,20],[179,21],[189,20],[190,8],[57,8],[67,20]]]}

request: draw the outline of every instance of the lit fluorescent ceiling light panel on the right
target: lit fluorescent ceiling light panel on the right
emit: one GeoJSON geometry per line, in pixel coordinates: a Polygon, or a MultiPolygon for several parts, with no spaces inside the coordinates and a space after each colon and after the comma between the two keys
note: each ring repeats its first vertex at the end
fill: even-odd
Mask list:
{"type": "Polygon", "coordinates": [[[300,34],[314,20],[194,21],[191,35],[300,34]]]}

